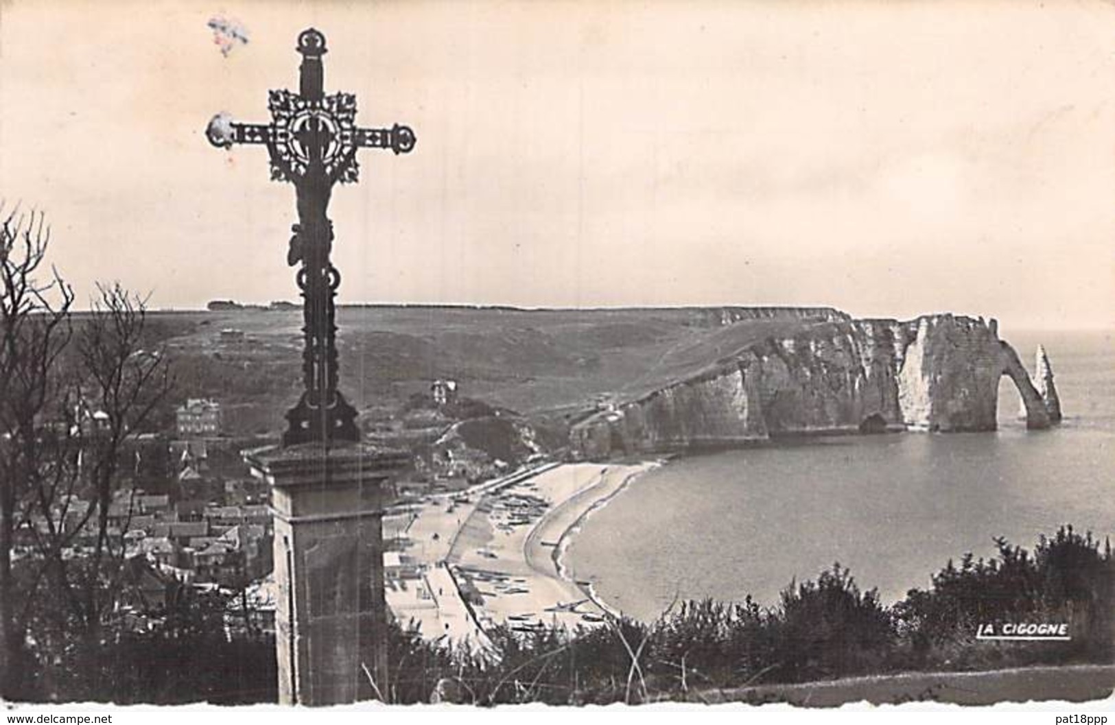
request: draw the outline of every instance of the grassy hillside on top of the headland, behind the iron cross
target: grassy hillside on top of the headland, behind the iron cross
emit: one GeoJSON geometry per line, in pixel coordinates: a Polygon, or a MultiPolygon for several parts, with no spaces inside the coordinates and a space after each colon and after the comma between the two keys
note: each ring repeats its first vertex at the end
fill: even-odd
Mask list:
{"type": "MultiPolygon", "coordinates": [[[[254,406],[258,415],[242,417],[255,427],[279,425],[301,385],[301,311],[154,312],[152,320],[178,364],[183,390],[254,406]],[[227,328],[245,340],[222,342],[227,328]]],[[[365,409],[401,405],[433,379],[453,378],[467,397],[561,419],[599,396],[636,398],[767,337],[817,323],[784,317],[720,327],[698,308],[341,308],[341,388],[365,409]]]]}

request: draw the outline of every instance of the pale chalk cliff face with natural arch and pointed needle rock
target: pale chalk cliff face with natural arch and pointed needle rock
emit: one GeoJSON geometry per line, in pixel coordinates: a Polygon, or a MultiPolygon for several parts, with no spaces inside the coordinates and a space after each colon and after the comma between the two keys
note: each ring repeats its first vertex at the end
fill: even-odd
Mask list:
{"type": "Polygon", "coordinates": [[[1049,394],[1030,381],[1014,348],[999,339],[995,320],[828,315],[617,402],[575,423],[571,443],[591,456],[828,432],[993,431],[1004,375],[1021,394],[1028,427],[1057,419],[1049,394]]]}

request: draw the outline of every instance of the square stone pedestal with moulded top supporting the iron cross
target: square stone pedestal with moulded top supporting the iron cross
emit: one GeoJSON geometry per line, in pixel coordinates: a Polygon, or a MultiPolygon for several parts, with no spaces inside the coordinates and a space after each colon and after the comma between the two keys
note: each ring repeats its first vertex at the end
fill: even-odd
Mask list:
{"type": "Polygon", "coordinates": [[[386,698],[382,508],[408,454],[307,443],[245,460],[271,485],[279,702],[386,698]]]}

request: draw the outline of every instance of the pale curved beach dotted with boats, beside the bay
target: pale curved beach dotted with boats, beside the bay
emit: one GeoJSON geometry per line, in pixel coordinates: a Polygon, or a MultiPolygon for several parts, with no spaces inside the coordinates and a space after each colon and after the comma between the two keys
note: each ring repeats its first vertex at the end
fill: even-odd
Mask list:
{"type": "Polygon", "coordinates": [[[604,605],[565,571],[585,516],[657,462],[547,464],[385,518],[384,536],[413,567],[388,576],[387,602],[426,638],[475,648],[486,630],[595,627],[604,605]]]}

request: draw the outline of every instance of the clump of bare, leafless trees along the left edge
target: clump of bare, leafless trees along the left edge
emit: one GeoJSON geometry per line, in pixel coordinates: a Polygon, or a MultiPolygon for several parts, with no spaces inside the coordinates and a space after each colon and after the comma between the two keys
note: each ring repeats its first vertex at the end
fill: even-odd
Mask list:
{"type": "Polygon", "coordinates": [[[172,386],[165,358],[144,349],[146,301],[98,286],[90,312],[75,312],[46,269],[49,238],[41,213],[0,220],[0,696],[16,698],[45,611],[55,627],[32,637],[40,649],[98,636],[123,568],[109,528],[120,456],[172,386]],[[89,526],[95,547],[75,564],[66,552],[89,526]]]}

